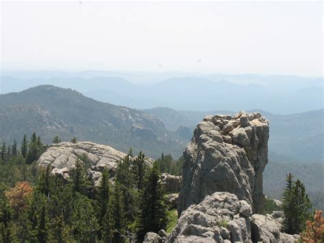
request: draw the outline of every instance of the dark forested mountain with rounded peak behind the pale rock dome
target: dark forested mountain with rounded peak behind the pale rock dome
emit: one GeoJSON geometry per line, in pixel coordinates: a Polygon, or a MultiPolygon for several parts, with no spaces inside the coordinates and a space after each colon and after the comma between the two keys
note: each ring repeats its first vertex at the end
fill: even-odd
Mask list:
{"type": "Polygon", "coordinates": [[[70,89],[38,86],[1,94],[0,110],[0,140],[5,142],[36,131],[46,143],[56,135],[66,141],[76,136],[124,152],[133,147],[152,157],[163,152],[179,156],[185,147],[183,139],[151,114],[98,102],[70,89]]]}

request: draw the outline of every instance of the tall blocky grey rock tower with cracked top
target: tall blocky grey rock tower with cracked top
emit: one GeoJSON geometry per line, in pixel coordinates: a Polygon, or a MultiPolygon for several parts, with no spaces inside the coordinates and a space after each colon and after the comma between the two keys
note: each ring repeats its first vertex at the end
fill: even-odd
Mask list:
{"type": "Polygon", "coordinates": [[[269,123],[260,113],[206,116],[184,152],[178,214],[214,192],[230,192],[262,213],[269,123]]]}

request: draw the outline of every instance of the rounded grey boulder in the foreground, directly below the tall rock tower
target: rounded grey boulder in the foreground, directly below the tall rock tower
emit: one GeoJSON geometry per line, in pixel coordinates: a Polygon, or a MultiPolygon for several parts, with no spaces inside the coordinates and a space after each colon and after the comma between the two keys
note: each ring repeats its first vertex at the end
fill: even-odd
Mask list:
{"type": "Polygon", "coordinates": [[[249,242],[252,208],[229,192],[215,192],[181,214],[168,242],[249,242]]]}

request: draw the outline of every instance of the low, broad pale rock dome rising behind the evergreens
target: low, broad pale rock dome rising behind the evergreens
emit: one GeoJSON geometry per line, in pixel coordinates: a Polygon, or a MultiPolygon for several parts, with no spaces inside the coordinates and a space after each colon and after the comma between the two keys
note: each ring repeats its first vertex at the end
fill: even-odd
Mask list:
{"type": "Polygon", "coordinates": [[[68,178],[68,172],[75,165],[78,156],[86,155],[90,164],[90,174],[95,185],[101,178],[101,172],[105,167],[109,170],[111,177],[114,176],[118,161],[126,154],[111,146],[95,144],[92,142],[61,142],[51,144],[49,149],[38,159],[40,166],[53,166],[52,173],[68,178]]]}

